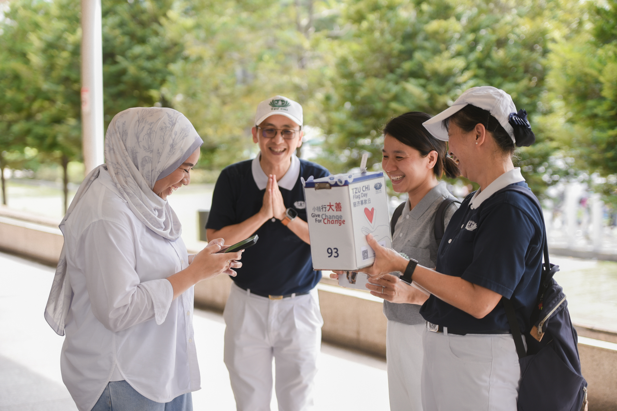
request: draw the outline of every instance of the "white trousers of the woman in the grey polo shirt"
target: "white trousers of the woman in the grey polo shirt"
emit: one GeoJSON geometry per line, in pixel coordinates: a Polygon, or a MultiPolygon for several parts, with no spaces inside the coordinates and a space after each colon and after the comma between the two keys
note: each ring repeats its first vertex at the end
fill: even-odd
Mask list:
{"type": "Polygon", "coordinates": [[[424,323],[387,322],[387,384],[391,411],[422,411],[420,380],[425,331],[424,323]]]}

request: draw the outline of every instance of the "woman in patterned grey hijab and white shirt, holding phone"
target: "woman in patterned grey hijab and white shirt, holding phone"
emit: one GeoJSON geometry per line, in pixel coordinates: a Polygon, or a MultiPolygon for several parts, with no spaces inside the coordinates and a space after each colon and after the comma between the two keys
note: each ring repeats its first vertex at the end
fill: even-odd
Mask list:
{"type": "Polygon", "coordinates": [[[66,333],[62,380],[80,411],[193,409],[193,285],[241,267],[241,252],[215,254],[222,239],[188,255],[167,202],[189,184],[202,143],[176,110],[118,113],[106,164],[86,176],[60,223],[45,318],[66,333]]]}

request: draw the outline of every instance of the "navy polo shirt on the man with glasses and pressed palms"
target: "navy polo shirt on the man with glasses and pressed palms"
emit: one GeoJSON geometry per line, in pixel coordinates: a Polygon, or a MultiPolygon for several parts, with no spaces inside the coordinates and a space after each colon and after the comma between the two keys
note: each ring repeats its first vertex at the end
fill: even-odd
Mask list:
{"type": "MultiPolygon", "coordinates": [[[[212,207],[206,228],[221,228],[238,224],[257,214],[262,208],[265,189],[255,184],[252,160],[232,164],[218,176],[212,196],[212,207]]],[[[320,178],[330,173],[326,168],[300,159],[300,174],[291,190],[279,187],[285,207],[298,212],[297,218],[307,220],[304,189],[300,177],[320,178]]],[[[321,280],[321,272],[313,271],[309,244],[302,241],[280,220],[268,220],[255,234],[257,244],[242,254],[242,267],[234,268],[231,277],[242,288],[255,293],[283,296],[309,291],[321,280]]]]}

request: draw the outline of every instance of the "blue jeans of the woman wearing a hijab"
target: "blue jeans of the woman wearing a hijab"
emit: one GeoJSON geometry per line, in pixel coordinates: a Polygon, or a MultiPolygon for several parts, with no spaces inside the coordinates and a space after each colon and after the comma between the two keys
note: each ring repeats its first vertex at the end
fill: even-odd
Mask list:
{"type": "Polygon", "coordinates": [[[111,381],[92,411],[193,411],[193,397],[188,392],[170,402],[156,402],[139,394],[126,381],[111,381]]]}

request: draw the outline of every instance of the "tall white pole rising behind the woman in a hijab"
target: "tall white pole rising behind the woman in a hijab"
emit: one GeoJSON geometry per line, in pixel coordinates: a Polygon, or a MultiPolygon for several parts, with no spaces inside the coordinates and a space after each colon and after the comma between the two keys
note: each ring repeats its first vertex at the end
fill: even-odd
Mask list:
{"type": "Polygon", "coordinates": [[[103,164],[101,0],[81,0],[81,133],[86,175],[103,164]]]}

